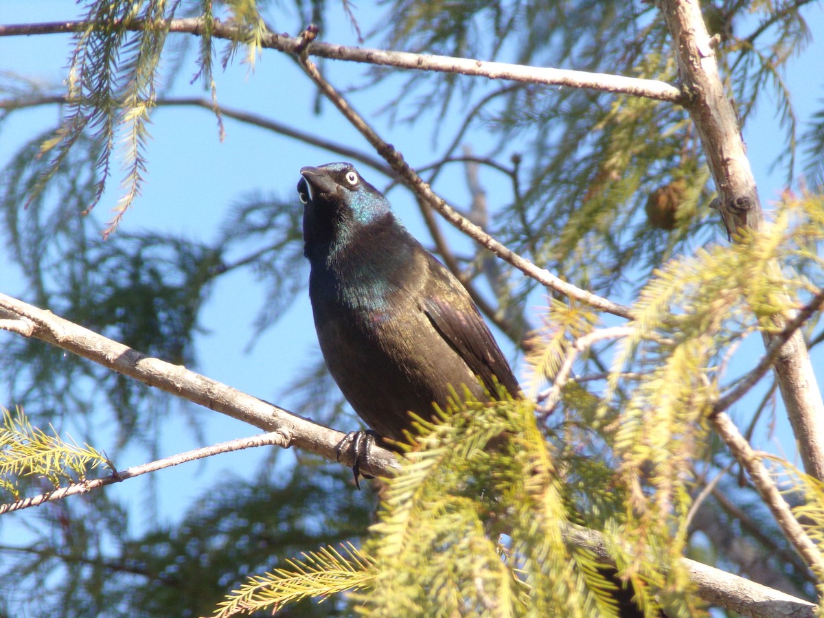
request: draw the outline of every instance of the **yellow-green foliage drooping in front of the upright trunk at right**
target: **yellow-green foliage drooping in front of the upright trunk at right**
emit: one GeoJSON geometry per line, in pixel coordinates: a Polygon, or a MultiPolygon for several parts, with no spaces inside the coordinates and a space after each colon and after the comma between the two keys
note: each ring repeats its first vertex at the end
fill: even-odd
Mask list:
{"type": "MultiPolygon", "coordinates": [[[[602,414],[620,410],[612,454],[629,494],[623,532],[632,547],[628,564],[632,555],[649,551],[661,564],[681,556],[691,466],[708,440],[706,420],[723,390],[723,360],[753,330],[775,330],[773,318],[789,316],[798,293],[814,288],[770,267],[799,252],[803,260],[820,262],[808,250],[815,245],[811,235],[822,239],[821,204],[794,200],[733,247],[672,260],[641,293],[634,335],[614,358],[602,400],[602,414]],[[625,377],[628,370],[632,379],[625,377]]],[[[682,589],[682,577],[671,571],[668,587],[682,589]]]]}

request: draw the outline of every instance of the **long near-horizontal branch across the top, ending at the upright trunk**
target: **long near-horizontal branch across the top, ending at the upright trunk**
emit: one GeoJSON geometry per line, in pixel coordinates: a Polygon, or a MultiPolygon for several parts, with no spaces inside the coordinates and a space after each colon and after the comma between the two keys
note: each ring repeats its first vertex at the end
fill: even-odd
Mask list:
{"type": "MultiPolygon", "coordinates": [[[[87,21],[53,21],[39,24],[12,24],[0,26],[0,36],[50,35],[80,32],[86,30],[87,21]]],[[[204,20],[199,17],[171,19],[148,24],[143,20],[130,21],[128,30],[147,30],[148,28],[168,29],[190,35],[204,34],[204,20]]],[[[236,24],[214,20],[211,35],[216,39],[243,40],[242,30],[236,24]]],[[[658,101],[681,103],[681,91],[666,82],[638,77],[623,77],[606,73],[587,73],[563,68],[529,67],[522,64],[484,62],[468,58],[453,58],[429,54],[410,54],[409,52],[387,51],[332,43],[310,43],[301,37],[269,32],[260,40],[264,48],[278,49],[291,54],[306,53],[349,62],[378,64],[386,67],[407,68],[417,71],[436,71],[439,73],[457,73],[474,77],[487,77],[512,82],[545,84],[547,86],[565,86],[591,88],[593,90],[613,92],[633,96],[644,96],[658,101]]]]}

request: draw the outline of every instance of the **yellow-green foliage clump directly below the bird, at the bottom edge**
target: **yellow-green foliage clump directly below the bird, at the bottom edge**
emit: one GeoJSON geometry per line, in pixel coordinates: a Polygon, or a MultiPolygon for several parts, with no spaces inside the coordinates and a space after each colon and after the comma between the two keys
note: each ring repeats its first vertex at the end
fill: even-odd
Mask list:
{"type": "Polygon", "coordinates": [[[592,553],[564,539],[588,501],[572,494],[601,485],[564,485],[530,403],[468,403],[421,425],[363,550],[251,578],[219,615],[323,597],[341,570],[337,591],[359,588],[364,616],[616,615],[592,553]]]}

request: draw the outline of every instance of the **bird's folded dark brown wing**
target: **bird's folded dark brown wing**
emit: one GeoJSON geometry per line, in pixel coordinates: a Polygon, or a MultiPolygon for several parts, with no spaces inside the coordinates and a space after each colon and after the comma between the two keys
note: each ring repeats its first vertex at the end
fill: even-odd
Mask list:
{"type": "MultiPolygon", "coordinates": [[[[457,281],[455,285],[461,285],[457,281]]],[[[438,333],[463,358],[470,371],[480,377],[491,394],[503,386],[513,397],[520,387],[484,319],[469,295],[460,293],[442,297],[437,292],[424,297],[424,312],[438,333]]]]}

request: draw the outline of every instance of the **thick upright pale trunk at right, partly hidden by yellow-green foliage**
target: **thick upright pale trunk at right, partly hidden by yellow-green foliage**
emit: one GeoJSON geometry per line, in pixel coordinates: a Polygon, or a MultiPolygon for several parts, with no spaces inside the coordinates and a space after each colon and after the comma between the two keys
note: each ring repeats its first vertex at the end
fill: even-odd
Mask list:
{"type": "MultiPolygon", "coordinates": [[[[731,237],[761,227],[763,214],[732,103],[723,90],[698,2],[658,0],[677,55],[678,71],[689,95],[686,109],[695,123],[718,191],[717,208],[731,237]]],[[[777,263],[768,266],[779,269],[777,263]]],[[[787,320],[775,319],[777,330],[787,320]]],[[[774,335],[764,335],[770,349],[774,335]]],[[[780,345],[773,364],[781,396],[808,475],[824,480],[824,401],[798,330],[780,345]]]]}

